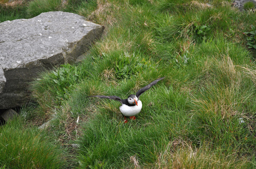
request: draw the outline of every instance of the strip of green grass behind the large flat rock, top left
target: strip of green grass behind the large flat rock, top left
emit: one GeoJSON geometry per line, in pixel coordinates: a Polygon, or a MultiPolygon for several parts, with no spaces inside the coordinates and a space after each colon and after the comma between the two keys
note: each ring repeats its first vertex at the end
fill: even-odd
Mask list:
{"type": "Polygon", "coordinates": [[[97,7],[94,0],[91,1],[67,1],[62,3],[61,0],[34,0],[34,1],[14,1],[14,3],[0,2],[0,21],[29,19],[42,12],[65,11],[75,12],[79,15],[87,16],[97,7]]]}

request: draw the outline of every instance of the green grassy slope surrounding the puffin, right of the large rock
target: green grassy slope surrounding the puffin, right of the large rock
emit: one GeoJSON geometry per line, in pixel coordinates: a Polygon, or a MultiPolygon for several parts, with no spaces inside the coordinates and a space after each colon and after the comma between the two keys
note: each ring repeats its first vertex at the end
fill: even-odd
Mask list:
{"type": "MultiPolygon", "coordinates": [[[[242,32],[250,31],[256,16],[228,1],[208,3],[50,5],[87,16],[106,31],[82,63],[44,73],[32,84],[39,105],[23,108],[24,119],[40,124],[51,114],[57,118],[39,134],[24,127],[35,132],[31,139],[61,145],[53,152],[62,150],[72,167],[254,168],[255,63],[242,32]],[[163,76],[140,97],[137,119],[126,124],[118,102],[87,97],[126,97],[163,76]]],[[[31,4],[27,14],[33,16],[39,10],[31,4]]],[[[4,164],[12,167],[13,161],[4,164]]]]}

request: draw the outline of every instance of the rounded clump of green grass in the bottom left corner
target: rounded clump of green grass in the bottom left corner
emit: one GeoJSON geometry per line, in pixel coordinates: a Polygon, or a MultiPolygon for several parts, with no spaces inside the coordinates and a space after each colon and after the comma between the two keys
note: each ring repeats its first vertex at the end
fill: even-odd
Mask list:
{"type": "Polygon", "coordinates": [[[0,167],[62,168],[66,165],[56,145],[50,144],[39,131],[22,126],[19,120],[14,120],[0,127],[0,167]]]}

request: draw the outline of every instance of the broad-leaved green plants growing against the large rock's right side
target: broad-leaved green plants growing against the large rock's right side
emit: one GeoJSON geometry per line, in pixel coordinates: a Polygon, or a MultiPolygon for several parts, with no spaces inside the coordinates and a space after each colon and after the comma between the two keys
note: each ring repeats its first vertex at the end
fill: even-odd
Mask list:
{"type": "MultiPolygon", "coordinates": [[[[69,98],[70,91],[74,88],[75,84],[79,83],[84,77],[87,77],[89,71],[89,69],[85,69],[87,66],[88,63],[80,66],[66,64],[56,70],[43,73],[32,83],[31,90],[34,91],[35,97],[39,100],[46,99],[45,97],[48,97],[48,94],[53,96],[52,99],[56,103],[66,100],[69,98]]],[[[49,98],[44,101],[47,100],[49,98]]]]}

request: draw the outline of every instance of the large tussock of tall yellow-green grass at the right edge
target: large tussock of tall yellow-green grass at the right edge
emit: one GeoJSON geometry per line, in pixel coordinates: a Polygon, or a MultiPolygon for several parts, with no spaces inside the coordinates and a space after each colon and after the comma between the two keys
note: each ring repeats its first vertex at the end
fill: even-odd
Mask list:
{"type": "Polygon", "coordinates": [[[251,105],[249,103],[253,99],[248,88],[244,87],[246,79],[242,79],[240,71],[227,56],[207,65],[214,65],[207,68],[212,73],[207,73],[204,79],[206,83],[200,88],[199,94],[192,98],[192,111],[202,137],[228,151],[232,147],[242,154],[253,153],[248,149],[248,145],[254,144],[253,133],[239,121],[241,117],[247,118],[248,109],[244,106],[251,105]]]}

